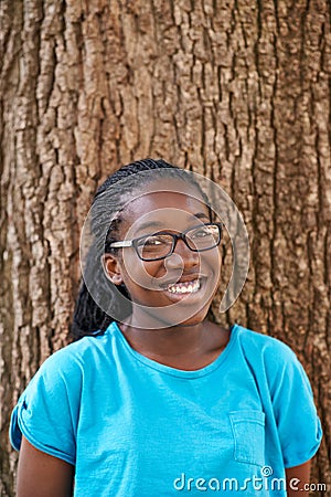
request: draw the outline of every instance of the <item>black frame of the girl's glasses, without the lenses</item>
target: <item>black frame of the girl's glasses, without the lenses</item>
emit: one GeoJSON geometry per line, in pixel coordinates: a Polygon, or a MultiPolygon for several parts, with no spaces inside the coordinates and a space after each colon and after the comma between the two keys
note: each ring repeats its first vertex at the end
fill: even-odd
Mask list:
{"type": "Polygon", "coordinates": [[[126,247],[132,246],[132,247],[135,248],[136,254],[138,255],[138,257],[139,257],[141,261],[145,261],[145,262],[161,261],[161,260],[163,260],[163,258],[170,257],[170,256],[173,254],[174,248],[175,248],[177,243],[178,243],[179,240],[182,240],[182,241],[184,242],[184,244],[186,245],[186,247],[190,248],[190,251],[192,251],[192,252],[206,252],[206,251],[211,251],[212,248],[215,248],[215,247],[218,246],[220,243],[221,243],[223,228],[224,228],[224,223],[222,223],[222,222],[202,223],[202,224],[197,224],[196,226],[189,228],[188,230],[184,230],[182,233],[169,233],[169,231],[158,231],[157,233],[146,234],[146,235],[142,235],[142,236],[138,236],[137,239],[132,239],[132,240],[121,240],[121,241],[118,241],[118,242],[113,242],[113,243],[110,243],[110,244],[108,245],[108,247],[109,247],[109,248],[126,248],[126,247]],[[211,225],[212,225],[212,226],[217,226],[217,228],[218,228],[218,242],[217,242],[215,245],[210,246],[210,247],[207,247],[207,248],[201,248],[201,250],[191,248],[191,246],[190,246],[190,245],[188,244],[188,242],[186,242],[186,236],[185,236],[185,234],[186,234],[189,231],[194,230],[195,228],[211,226],[211,225]],[[138,246],[137,246],[139,240],[143,240],[143,239],[146,239],[146,237],[148,237],[148,236],[154,236],[154,235],[159,235],[159,234],[167,234],[167,235],[172,236],[172,247],[171,247],[170,253],[167,254],[167,255],[162,255],[161,257],[157,257],[157,258],[146,258],[146,257],[142,257],[142,256],[139,254],[139,252],[138,252],[138,246]]]}

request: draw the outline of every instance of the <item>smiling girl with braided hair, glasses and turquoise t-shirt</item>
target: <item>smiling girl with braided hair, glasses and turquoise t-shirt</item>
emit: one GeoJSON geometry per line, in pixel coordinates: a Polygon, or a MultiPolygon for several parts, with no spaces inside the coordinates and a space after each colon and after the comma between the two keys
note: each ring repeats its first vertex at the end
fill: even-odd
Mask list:
{"type": "Polygon", "coordinates": [[[282,342],[207,319],[223,224],[200,186],[134,162],[90,219],[76,341],[12,413],[18,497],[308,496],[321,440],[309,381],[282,342]]]}

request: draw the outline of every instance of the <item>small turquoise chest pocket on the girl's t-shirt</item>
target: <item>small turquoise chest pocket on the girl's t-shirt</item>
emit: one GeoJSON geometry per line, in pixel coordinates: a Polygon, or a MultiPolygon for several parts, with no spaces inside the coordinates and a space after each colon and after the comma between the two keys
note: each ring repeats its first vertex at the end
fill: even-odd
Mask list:
{"type": "Polygon", "coordinates": [[[232,411],[228,413],[234,437],[234,458],[239,463],[264,465],[265,413],[232,411]]]}

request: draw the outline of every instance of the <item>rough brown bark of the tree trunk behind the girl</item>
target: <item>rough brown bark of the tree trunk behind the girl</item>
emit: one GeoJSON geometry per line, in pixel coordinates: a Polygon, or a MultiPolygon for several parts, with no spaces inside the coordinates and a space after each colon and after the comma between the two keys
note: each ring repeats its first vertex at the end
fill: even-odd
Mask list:
{"type": "Polygon", "coordinates": [[[0,1],[2,496],[13,403],[67,341],[96,186],[148,156],[242,211],[248,279],[216,319],[298,353],[324,426],[313,482],[330,484],[330,0],[0,1]]]}

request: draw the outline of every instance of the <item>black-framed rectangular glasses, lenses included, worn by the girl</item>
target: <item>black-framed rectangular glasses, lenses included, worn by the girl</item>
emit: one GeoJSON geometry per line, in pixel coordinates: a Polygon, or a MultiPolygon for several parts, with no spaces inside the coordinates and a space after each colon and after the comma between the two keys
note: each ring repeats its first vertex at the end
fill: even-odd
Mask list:
{"type": "Polygon", "coordinates": [[[141,261],[159,261],[169,257],[181,239],[193,252],[204,252],[220,245],[223,223],[205,223],[189,228],[182,233],[159,231],[134,240],[113,242],[108,246],[124,248],[132,246],[141,261]]]}

